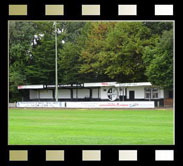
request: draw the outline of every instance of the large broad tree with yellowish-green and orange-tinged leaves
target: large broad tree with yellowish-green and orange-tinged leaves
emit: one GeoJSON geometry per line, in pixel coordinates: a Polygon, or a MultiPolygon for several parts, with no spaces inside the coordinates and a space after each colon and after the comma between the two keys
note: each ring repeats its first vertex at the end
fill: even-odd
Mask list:
{"type": "Polygon", "coordinates": [[[141,22],[93,23],[91,26],[81,52],[81,73],[95,73],[119,82],[147,79],[143,50],[154,45],[157,35],[151,34],[141,22]]]}

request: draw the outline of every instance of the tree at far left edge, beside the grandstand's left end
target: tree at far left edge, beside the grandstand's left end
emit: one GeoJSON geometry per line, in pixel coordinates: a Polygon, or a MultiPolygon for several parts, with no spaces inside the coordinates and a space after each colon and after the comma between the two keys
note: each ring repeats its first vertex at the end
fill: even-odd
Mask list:
{"type": "Polygon", "coordinates": [[[9,22],[9,100],[21,99],[18,85],[26,84],[25,68],[29,63],[35,28],[32,22],[9,22]]]}

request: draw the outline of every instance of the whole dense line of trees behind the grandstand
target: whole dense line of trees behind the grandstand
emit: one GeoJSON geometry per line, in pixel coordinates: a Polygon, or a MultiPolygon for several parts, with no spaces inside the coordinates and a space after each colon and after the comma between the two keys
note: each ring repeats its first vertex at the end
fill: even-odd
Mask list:
{"type": "MultiPolygon", "coordinates": [[[[57,22],[59,84],[150,81],[173,88],[173,23],[57,22]]],[[[9,97],[55,84],[53,21],[9,22],[9,97]]]]}

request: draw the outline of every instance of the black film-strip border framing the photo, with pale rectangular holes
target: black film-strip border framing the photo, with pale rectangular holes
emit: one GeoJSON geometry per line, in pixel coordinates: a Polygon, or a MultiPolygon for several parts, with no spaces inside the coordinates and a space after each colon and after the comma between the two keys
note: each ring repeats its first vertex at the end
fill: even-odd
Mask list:
{"type": "MultiPolygon", "coordinates": [[[[177,98],[175,109],[175,145],[8,145],[8,21],[11,20],[165,20],[174,21],[175,23],[175,43],[178,41],[177,35],[179,31],[179,22],[176,13],[178,4],[175,0],[8,0],[1,5],[1,20],[0,20],[0,165],[5,166],[18,166],[18,165],[133,165],[133,166],[164,166],[164,165],[181,165],[183,162],[183,123],[181,105],[180,109],[177,98]],[[9,16],[8,5],[9,4],[27,4],[28,15],[27,16],[9,16]],[[64,16],[45,16],[44,5],[45,4],[64,4],[64,16]],[[82,16],[81,5],[82,4],[100,4],[101,15],[100,16],[82,16]],[[118,16],[117,8],[118,4],[137,4],[137,16],[118,16]],[[173,16],[155,16],[154,5],[155,4],[173,4],[174,15],[173,16]],[[178,28],[177,28],[178,27],[178,28]],[[65,160],[63,162],[46,162],[45,151],[46,150],[64,150],[65,160]],[[155,161],[155,150],[174,150],[174,161],[155,161]],[[26,162],[11,162],[9,161],[9,150],[28,150],[29,156],[26,162]],[[82,150],[101,150],[101,161],[85,162],[82,161],[82,150]],[[138,161],[118,161],[118,150],[137,150],[138,161]]],[[[180,31],[181,33],[181,31],[180,31]]],[[[179,53],[178,42],[176,43],[175,53],[179,53]]],[[[176,57],[176,61],[179,58],[176,57]]],[[[175,68],[176,71],[176,68],[175,68]]],[[[178,78],[180,79],[180,78],[178,78]]],[[[179,82],[176,77],[177,82],[179,82]]],[[[178,88],[176,88],[178,89],[178,88]]],[[[175,89],[175,91],[176,91],[175,89]]],[[[176,94],[176,93],[175,93],[176,94]]]]}

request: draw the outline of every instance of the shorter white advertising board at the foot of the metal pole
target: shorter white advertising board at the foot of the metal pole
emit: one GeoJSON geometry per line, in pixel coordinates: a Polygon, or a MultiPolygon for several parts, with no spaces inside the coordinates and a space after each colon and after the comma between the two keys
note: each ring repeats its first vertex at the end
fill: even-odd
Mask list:
{"type": "Polygon", "coordinates": [[[17,102],[17,107],[63,108],[65,102],[17,102]]]}

